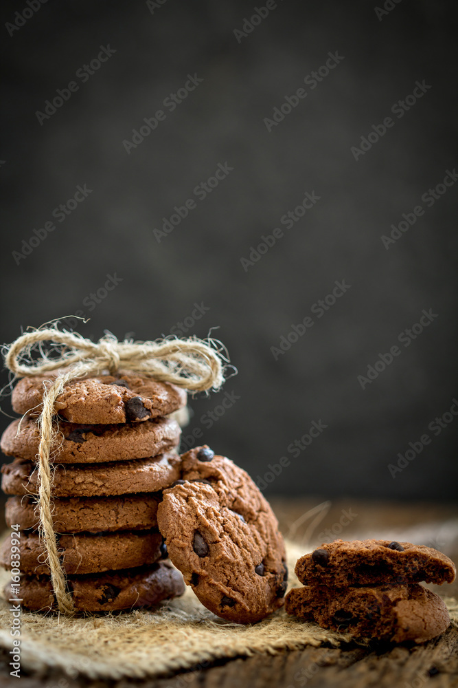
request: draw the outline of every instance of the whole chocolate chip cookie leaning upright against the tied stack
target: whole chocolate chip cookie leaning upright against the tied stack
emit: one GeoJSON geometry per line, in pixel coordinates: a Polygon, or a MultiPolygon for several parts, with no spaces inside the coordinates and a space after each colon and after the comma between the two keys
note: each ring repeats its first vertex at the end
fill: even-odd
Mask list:
{"type": "Polygon", "coordinates": [[[183,454],[179,484],[157,522],[171,561],[222,619],[253,623],[283,604],[286,556],[278,522],[251,477],[208,447],[183,454]]]}

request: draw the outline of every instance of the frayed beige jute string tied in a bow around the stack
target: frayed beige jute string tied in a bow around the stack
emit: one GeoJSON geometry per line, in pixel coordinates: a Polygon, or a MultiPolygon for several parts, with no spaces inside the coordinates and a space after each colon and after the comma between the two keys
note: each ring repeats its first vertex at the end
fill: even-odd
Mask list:
{"type": "Polygon", "coordinates": [[[198,338],[161,339],[157,341],[117,341],[106,334],[97,343],[80,334],[51,327],[26,332],[5,347],[5,365],[15,378],[44,375],[58,371],[43,394],[43,409],[38,418],[40,444],[38,447],[38,507],[39,533],[47,552],[51,583],[60,612],[75,613],[71,594],[67,590],[65,572],[60,565],[58,542],[52,522],[52,473],[49,457],[55,447],[58,429],[53,424],[54,404],[67,383],[77,378],[100,375],[108,371],[126,372],[152,377],[161,382],[174,383],[189,391],[219,389],[225,381],[227,357],[219,342],[198,338]],[[55,356],[43,349],[43,342],[51,342],[55,356]],[[36,347],[41,358],[34,361],[31,352],[36,347]]]}

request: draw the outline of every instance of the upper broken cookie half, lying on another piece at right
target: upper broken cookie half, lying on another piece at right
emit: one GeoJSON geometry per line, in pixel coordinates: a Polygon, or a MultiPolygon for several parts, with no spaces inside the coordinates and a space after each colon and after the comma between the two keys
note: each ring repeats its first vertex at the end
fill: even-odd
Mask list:
{"type": "Polygon", "coordinates": [[[297,560],[295,572],[306,585],[385,585],[452,583],[451,559],[431,547],[389,540],[336,540],[297,560]]]}

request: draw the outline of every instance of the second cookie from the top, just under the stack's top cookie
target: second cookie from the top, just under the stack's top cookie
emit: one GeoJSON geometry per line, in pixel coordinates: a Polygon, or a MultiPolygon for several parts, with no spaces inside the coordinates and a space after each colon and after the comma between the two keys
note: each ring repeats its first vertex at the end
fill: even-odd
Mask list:
{"type": "MultiPolygon", "coordinates": [[[[175,420],[150,418],[144,423],[91,424],[60,422],[58,449],[51,460],[60,464],[126,461],[156,456],[177,447],[181,430],[175,420]]],[[[1,436],[0,448],[8,456],[36,460],[40,433],[36,418],[13,420],[1,436]],[[19,428],[19,422],[21,426],[19,428]],[[19,434],[18,434],[19,429],[19,434]]]]}

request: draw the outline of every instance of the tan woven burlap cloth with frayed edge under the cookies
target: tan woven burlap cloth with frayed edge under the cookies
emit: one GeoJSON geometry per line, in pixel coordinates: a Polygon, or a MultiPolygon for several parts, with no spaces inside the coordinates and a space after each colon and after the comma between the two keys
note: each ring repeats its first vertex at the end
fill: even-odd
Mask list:
{"type": "MultiPolygon", "coordinates": [[[[293,572],[304,548],[288,542],[288,567],[293,572]]],[[[1,571],[1,588],[8,580],[1,571]]],[[[297,585],[290,575],[290,585],[297,585]]],[[[458,603],[446,599],[453,624],[458,627],[458,603]]],[[[10,603],[0,600],[0,647],[12,649],[10,603]]],[[[183,597],[161,603],[154,611],[88,616],[72,619],[23,612],[21,616],[21,671],[56,668],[71,678],[152,678],[183,669],[204,669],[221,658],[277,654],[288,649],[338,647],[349,642],[339,634],[303,623],[277,612],[260,623],[227,623],[207,611],[190,588],[183,597]]],[[[360,643],[365,644],[365,643],[360,643]]]]}

